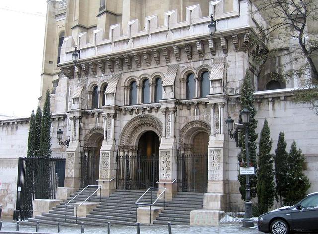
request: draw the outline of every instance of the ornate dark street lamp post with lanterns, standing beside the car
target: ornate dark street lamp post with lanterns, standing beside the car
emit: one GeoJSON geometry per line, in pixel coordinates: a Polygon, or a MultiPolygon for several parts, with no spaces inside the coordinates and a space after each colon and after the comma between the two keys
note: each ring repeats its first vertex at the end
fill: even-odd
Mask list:
{"type": "MultiPolygon", "coordinates": [[[[242,124],[235,124],[236,125],[236,131],[234,134],[232,134],[233,130],[233,123],[234,121],[228,117],[228,119],[225,121],[228,125],[228,132],[230,135],[230,138],[235,138],[235,140],[238,142],[238,130],[244,129],[245,130],[245,149],[246,149],[246,164],[247,167],[249,167],[249,147],[248,147],[248,125],[250,122],[250,111],[246,108],[244,108],[240,112],[240,117],[242,120],[242,124]]],[[[246,174],[246,185],[245,185],[245,214],[243,219],[243,227],[253,227],[254,221],[251,219],[252,217],[252,202],[250,200],[250,184],[249,184],[249,174],[246,174]]]]}

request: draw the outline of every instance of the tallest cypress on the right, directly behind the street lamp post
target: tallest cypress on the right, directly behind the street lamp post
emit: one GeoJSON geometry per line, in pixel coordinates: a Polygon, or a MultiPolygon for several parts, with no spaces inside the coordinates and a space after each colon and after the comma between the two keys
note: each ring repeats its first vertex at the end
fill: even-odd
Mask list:
{"type": "MultiPolygon", "coordinates": [[[[252,82],[249,76],[249,72],[246,71],[246,75],[244,78],[244,82],[241,88],[241,96],[240,96],[240,103],[241,108],[247,108],[250,111],[250,123],[248,125],[248,147],[249,147],[249,162],[250,165],[246,163],[246,146],[245,146],[245,132],[241,131],[239,133],[239,142],[241,144],[241,152],[238,156],[240,166],[254,166],[255,171],[257,169],[256,165],[256,139],[257,134],[255,129],[257,127],[257,120],[255,119],[256,116],[256,109],[254,106],[254,90],[252,87],[252,82]]],[[[240,187],[239,192],[242,195],[242,199],[245,200],[245,184],[246,184],[246,176],[245,175],[238,175],[240,187]]],[[[256,197],[256,184],[257,184],[257,176],[250,175],[250,193],[251,198],[256,197]]]]}

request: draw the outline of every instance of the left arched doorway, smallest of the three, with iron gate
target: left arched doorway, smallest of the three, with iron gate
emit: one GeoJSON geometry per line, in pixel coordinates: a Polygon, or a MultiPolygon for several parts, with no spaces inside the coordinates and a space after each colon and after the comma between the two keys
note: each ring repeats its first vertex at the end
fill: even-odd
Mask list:
{"type": "Polygon", "coordinates": [[[85,142],[84,151],[81,154],[81,187],[98,185],[99,179],[99,155],[103,143],[103,134],[95,132],[89,135],[85,142]]]}

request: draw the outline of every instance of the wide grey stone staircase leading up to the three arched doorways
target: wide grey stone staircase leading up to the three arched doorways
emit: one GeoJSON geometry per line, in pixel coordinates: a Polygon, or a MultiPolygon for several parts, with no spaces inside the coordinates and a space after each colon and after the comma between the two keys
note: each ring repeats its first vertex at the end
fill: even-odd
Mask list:
{"type": "MultiPolygon", "coordinates": [[[[81,189],[76,191],[67,200],[64,200],[49,213],[42,213],[35,218],[29,218],[27,221],[21,221],[21,224],[36,225],[40,224],[57,225],[61,222],[63,226],[76,225],[76,217],[73,215],[74,203],[82,202],[89,196],[89,191],[83,191],[67,206],[67,222],[65,222],[65,204],[75,197],[81,189]]],[[[94,190],[91,190],[91,193],[94,190]]],[[[86,217],[78,217],[78,224],[84,222],[85,225],[107,226],[108,222],[117,225],[136,225],[136,205],[135,202],[143,195],[140,190],[116,190],[109,197],[101,197],[99,202],[99,192],[91,197],[91,202],[99,202],[86,217]]],[[[153,194],[153,200],[156,194],[153,194]]],[[[151,195],[147,193],[143,203],[151,202],[151,195]]],[[[154,224],[189,224],[190,211],[201,209],[203,203],[202,193],[179,192],[172,201],[165,202],[165,208],[161,214],[154,220],[154,224]]],[[[155,206],[163,206],[163,200],[158,200],[155,206]]],[[[139,205],[141,207],[141,205],[139,205]]]]}

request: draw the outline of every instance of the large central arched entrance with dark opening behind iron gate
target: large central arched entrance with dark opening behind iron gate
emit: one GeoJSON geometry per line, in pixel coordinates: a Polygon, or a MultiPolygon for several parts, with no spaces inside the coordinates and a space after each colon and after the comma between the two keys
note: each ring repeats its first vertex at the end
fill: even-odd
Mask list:
{"type": "Polygon", "coordinates": [[[124,146],[135,151],[118,154],[117,189],[145,190],[157,187],[159,181],[159,136],[154,131],[146,131],[136,138],[136,145],[124,146]]]}

